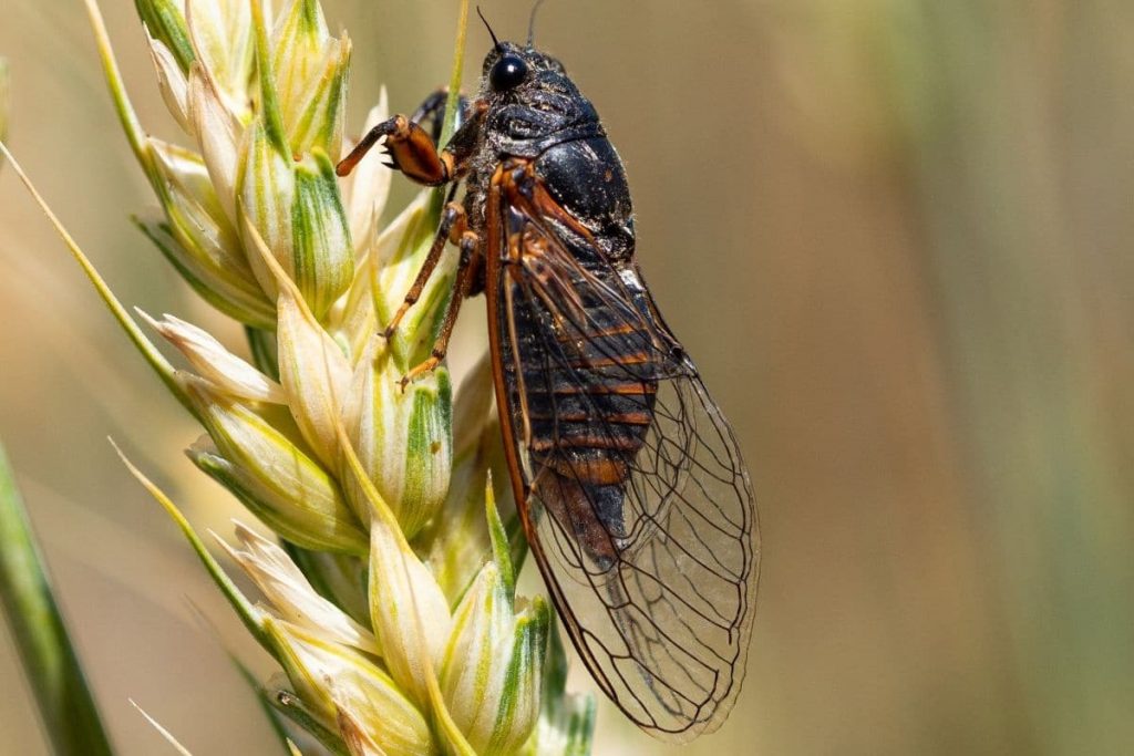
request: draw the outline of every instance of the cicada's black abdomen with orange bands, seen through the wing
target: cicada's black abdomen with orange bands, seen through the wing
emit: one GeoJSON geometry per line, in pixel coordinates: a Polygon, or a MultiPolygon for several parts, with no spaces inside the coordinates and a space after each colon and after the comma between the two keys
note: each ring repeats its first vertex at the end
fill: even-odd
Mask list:
{"type": "Polygon", "coordinates": [[[658,382],[650,335],[586,305],[582,328],[515,307],[521,358],[506,359],[505,381],[509,404],[522,409],[514,422],[532,493],[577,544],[583,567],[601,574],[627,537],[626,487],[654,419],[658,382]]]}

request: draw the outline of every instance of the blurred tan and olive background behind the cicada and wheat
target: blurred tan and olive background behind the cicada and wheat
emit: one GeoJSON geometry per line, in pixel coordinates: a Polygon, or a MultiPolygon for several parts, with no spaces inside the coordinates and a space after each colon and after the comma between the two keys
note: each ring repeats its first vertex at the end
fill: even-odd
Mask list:
{"type": "MultiPolygon", "coordinates": [[[[527,0],[482,6],[524,36],[527,0]]],[[[406,111],[446,80],[455,2],[324,7],[355,128],[381,84],[406,111]]],[[[133,3],[103,10],[176,137],[133,3]]],[[[10,144],[48,201],[122,300],[239,343],[128,222],[153,199],[82,3],[2,16],[10,144]]],[[[1134,3],[552,0],[536,40],[627,163],[763,529],[731,719],[679,751],[603,708],[594,753],[1132,753],[1134,3]]],[[[468,77],[486,49],[471,26],[468,77]]],[[[202,528],[239,509],[7,169],[0,229],[0,435],[121,753],[168,753],[128,698],[195,754],[271,753],[225,647],[271,665],[105,436],[202,528]]],[[[0,751],[45,754],[7,639],[0,680],[0,751]]]]}

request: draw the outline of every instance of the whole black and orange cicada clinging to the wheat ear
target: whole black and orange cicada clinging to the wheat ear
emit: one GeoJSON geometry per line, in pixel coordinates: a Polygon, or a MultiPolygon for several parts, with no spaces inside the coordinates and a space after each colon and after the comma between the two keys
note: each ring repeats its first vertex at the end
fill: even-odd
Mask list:
{"type": "Polygon", "coordinates": [[[395,116],[338,172],[384,138],[395,169],[451,184],[387,329],[458,245],[432,356],[405,380],[440,363],[462,301],[483,291],[511,485],[564,626],[631,720],[691,740],[723,722],[744,674],[759,575],[752,487],[638,272],[626,175],[594,107],[531,37],[489,33],[480,93],[440,152],[395,116]]]}

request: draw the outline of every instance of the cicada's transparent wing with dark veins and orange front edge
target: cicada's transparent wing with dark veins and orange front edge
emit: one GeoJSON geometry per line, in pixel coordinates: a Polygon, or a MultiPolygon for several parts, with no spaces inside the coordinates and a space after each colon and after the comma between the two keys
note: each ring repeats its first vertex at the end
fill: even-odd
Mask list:
{"type": "Polygon", "coordinates": [[[633,264],[549,216],[541,186],[501,196],[509,263],[488,284],[532,553],[604,693],[643,729],[692,739],[735,703],[753,620],[736,439],[633,264]]]}

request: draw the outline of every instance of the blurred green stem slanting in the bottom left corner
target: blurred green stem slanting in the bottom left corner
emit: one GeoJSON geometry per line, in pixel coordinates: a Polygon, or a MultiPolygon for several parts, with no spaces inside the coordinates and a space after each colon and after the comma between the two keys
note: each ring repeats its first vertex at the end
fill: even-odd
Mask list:
{"type": "Polygon", "coordinates": [[[2,445],[0,602],[54,753],[112,755],[2,445]]]}

